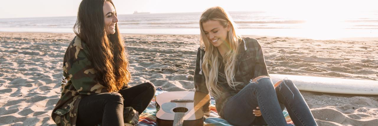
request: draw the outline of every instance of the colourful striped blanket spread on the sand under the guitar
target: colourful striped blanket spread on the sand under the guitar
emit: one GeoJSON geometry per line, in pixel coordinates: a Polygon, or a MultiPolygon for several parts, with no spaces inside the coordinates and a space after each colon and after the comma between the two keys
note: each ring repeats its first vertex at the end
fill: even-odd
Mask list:
{"type": "MultiPolygon", "coordinates": [[[[163,92],[166,91],[163,91],[161,88],[156,88],[155,96],[163,92]]],[[[232,126],[232,124],[219,117],[217,109],[215,109],[215,99],[213,97],[211,97],[210,110],[209,118],[206,118],[203,122],[204,126],[232,126]]],[[[155,112],[155,99],[153,99],[147,109],[144,110],[144,112],[139,116],[139,123],[136,126],[156,126],[155,112]]],[[[285,116],[289,126],[293,126],[294,123],[291,121],[287,111],[283,111],[283,115],[285,116]]]]}

